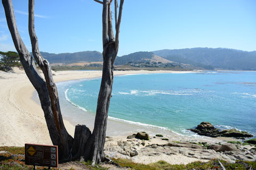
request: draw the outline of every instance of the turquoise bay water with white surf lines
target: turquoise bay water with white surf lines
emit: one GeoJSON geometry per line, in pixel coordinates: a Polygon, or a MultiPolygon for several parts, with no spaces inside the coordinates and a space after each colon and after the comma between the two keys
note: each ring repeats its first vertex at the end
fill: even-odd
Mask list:
{"type": "MultiPolygon", "coordinates": [[[[100,79],[58,84],[67,100],[95,113],[100,79]]],[[[109,116],[187,134],[202,121],[256,134],[256,72],[125,75],[114,78],[109,116]]]]}

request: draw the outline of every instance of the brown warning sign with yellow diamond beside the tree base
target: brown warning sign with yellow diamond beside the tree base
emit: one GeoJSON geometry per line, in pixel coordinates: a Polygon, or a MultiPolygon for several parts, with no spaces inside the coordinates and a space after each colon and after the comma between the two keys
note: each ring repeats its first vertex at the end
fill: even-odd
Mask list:
{"type": "Polygon", "coordinates": [[[58,146],[25,144],[25,164],[58,167],[58,146]]]}

